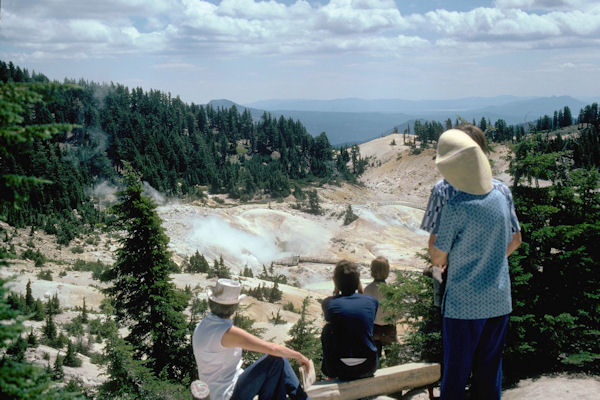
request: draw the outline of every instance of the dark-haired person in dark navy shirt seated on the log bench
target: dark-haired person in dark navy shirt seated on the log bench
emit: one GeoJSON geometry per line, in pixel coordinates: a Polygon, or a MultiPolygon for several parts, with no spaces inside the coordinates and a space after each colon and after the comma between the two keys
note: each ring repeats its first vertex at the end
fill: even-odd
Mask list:
{"type": "Polygon", "coordinates": [[[330,378],[364,378],[377,369],[373,324],[378,302],[362,294],[359,278],[356,264],[338,262],[333,272],[334,295],[322,303],[326,324],[321,333],[321,370],[330,378]]]}

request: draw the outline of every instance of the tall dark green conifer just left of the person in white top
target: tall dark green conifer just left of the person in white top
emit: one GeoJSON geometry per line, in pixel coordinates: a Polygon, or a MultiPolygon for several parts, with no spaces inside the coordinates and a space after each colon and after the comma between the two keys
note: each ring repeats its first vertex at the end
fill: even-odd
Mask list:
{"type": "Polygon", "coordinates": [[[161,227],[156,206],[142,195],[140,179],[131,171],[114,211],[126,235],[117,260],[108,270],[117,321],[129,328],[126,340],[137,359],[147,359],[156,373],[181,379],[192,368],[186,338],[187,305],[169,277],[169,238],[161,227]]]}

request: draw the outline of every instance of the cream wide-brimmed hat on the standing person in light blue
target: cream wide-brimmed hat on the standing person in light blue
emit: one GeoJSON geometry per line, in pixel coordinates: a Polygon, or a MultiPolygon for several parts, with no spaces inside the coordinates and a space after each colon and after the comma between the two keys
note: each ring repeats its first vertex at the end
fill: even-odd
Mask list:
{"type": "Polygon", "coordinates": [[[492,168],[481,147],[459,129],[449,129],[438,140],[435,164],[456,189],[470,194],[492,190],[492,168]]]}

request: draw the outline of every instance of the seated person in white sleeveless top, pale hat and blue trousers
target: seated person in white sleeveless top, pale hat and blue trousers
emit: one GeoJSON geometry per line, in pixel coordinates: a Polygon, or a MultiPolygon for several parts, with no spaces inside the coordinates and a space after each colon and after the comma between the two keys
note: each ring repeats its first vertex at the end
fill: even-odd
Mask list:
{"type": "Polygon", "coordinates": [[[196,326],[192,336],[200,380],[208,384],[211,400],[307,399],[288,360],[297,360],[307,371],[309,360],[285,346],[266,342],[233,326],[231,316],[244,295],[241,285],[219,279],[208,291],[210,313],[196,326]],[[246,370],[242,350],[266,353],[246,370]]]}

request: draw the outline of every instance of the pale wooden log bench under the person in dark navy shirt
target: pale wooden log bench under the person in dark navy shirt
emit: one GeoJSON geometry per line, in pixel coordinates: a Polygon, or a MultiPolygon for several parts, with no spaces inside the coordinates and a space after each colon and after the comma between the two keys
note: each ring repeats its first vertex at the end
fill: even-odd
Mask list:
{"type": "Polygon", "coordinates": [[[402,390],[428,386],[440,379],[441,368],[437,363],[410,363],[381,368],[370,378],[354,381],[320,381],[310,384],[310,379],[301,378],[304,390],[312,400],[352,400],[380,394],[398,393],[402,390]],[[308,379],[308,380],[306,380],[308,379]]]}

